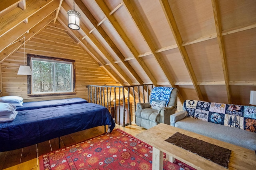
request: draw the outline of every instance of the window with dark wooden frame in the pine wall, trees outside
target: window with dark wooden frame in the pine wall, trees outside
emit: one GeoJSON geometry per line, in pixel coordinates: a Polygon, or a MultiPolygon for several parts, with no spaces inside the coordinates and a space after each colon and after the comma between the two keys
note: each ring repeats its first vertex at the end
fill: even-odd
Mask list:
{"type": "Polygon", "coordinates": [[[74,61],[29,54],[27,57],[32,70],[30,94],[74,94],[74,61]]]}

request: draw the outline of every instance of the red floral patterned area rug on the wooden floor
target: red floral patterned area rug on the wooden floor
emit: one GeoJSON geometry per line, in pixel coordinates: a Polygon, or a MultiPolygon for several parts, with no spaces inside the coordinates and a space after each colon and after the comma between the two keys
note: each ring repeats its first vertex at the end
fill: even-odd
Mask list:
{"type": "MultiPolygon", "coordinates": [[[[39,157],[40,170],[151,170],[152,147],[116,129],[39,157]]],[[[165,159],[164,170],[194,170],[165,159]]]]}

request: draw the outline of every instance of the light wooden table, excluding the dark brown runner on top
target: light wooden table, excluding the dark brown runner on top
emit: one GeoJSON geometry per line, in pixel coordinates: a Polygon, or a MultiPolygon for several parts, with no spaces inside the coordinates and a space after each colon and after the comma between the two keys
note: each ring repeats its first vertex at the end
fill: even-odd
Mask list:
{"type": "Polygon", "coordinates": [[[198,156],[192,152],[185,149],[172,145],[164,140],[172,136],[174,133],[180,132],[184,135],[200,139],[202,141],[218,145],[231,150],[229,170],[255,170],[256,169],[256,154],[254,150],[245,149],[212,139],[197,133],[192,133],[179,129],[177,127],[172,127],[164,123],[160,123],[146,131],[143,131],[136,135],[138,139],[144,141],[148,145],[153,147],[153,158],[152,158],[152,170],[162,170],[163,169],[163,153],[176,158],[185,164],[196,168],[197,170],[227,170],[226,168],[210,161],[205,158],[198,156]]]}

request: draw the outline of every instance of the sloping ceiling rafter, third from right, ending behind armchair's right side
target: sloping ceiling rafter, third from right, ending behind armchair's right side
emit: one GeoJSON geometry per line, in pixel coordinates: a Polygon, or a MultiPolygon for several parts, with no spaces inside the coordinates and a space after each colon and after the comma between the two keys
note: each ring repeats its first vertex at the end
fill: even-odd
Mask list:
{"type": "MultiPolygon", "coordinates": [[[[144,38],[145,42],[147,43],[147,45],[150,49],[150,52],[152,53],[152,55],[156,59],[157,63],[159,64],[160,68],[164,72],[164,75],[166,76],[167,80],[170,82],[172,87],[176,87],[170,72],[168,71],[168,69],[166,68],[166,66],[164,64],[164,61],[162,61],[161,57],[158,55],[158,53],[156,53],[156,47],[154,47],[154,44],[153,44],[152,40],[150,39],[146,29],[143,27],[143,25],[140,21],[140,18],[138,17],[138,14],[136,13],[136,10],[134,10],[134,7],[132,6],[130,0],[122,0],[122,3],[124,4],[126,9],[128,10],[128,13],[130,14],[130,16],[131,16],[132,20],[134,21],[138,30],[140,31],[140,33],[141,33],[142,37],[144,38]]],[[[180,92],[178,92],[178,98],[180,99],[180,101],[182,103],[184,102],[180,92]]]]}

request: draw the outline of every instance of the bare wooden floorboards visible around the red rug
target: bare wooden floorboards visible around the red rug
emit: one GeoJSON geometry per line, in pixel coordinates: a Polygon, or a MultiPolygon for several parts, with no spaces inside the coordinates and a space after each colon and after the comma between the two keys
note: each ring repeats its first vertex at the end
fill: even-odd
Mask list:
{"type": "MultiPolygon", "coordinates": [[[[128,125],[126,127],[116,125],[115,129],[116,128],[119,128],[133,136],[146,130],[137,125],[128,125]]],[[[60,147],[67,147],[74,143],[90,139],[103,133],[104,126],[101,126],[62,136],[60,147]]],[[[46,154],[57,149],[58,138],[22,149],[0,152],[0,170],[39,170],[38,157],[42,154],[46,154]]]]}

